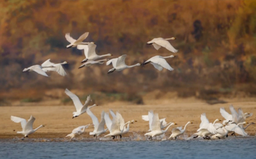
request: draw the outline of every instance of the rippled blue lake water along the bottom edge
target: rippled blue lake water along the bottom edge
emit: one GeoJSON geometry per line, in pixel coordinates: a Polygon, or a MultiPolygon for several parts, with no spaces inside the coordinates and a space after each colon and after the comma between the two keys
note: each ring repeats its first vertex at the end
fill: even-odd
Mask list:
{"type": "Polygon", "coordinates": [[[126,142],[0,140],[0,159],[255,159],[256,138],[126,142]]]}

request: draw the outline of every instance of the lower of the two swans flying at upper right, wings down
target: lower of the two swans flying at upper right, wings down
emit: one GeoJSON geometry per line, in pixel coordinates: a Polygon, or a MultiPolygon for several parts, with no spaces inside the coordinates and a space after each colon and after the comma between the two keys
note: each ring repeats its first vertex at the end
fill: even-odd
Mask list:
{"type": "Polygon", "coordinates": [[[158,69],[159,71],[162,71],[163,68],[168,69],[169,71],[173,71],[174,69],[167,63],[167,61],[165,60],[166,58],[172,58],[174,57],[173,55],[171,56],[154,56],[151,57],[149,60],[146,60],[143,64],[141,65],[145,65],[145,64],[152,64],[154,66],[154,68],[158,69]]]}

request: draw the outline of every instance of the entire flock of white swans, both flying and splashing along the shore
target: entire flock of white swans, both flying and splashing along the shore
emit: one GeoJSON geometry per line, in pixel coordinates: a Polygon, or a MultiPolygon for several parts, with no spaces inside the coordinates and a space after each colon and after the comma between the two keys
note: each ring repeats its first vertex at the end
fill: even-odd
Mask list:
{"type": "MultiPolygon", "coordinates": [[[[145,64],[152,64],[154,68],[158,69],[159,71],[163,70],[163,68],[168,69],[170,71],[173,70],[173,68],[167,63],[165,60],[166,58],[172,58],[171,56],[154,56],[151,57],[149,60],[146,60],[142,64],[134,64],[134,65],[126,65],[125,64],[125,58],[127,55],[122,55],[117,58],[113,59],[103,59],[99,60],[102,57],[106,56],[112,56],[112,54],[106,54],[106,55],[97,55],[96,45],[93,42],[83,42],[84,39],[88,37],[88,32],[82,34],[77,40],[73,39],[69,33],[65,35],[66,40],[70,43],[66,46],[66,48],[70,47],[77,47],[79,50],[84,50],[85,59],[82,60],[81,63],[83,63],[80,67],[88,67],[93,64],[103,64],[104,61],[106,61],[106,65],[112,64],[113,68],[108,71],[109,73],[113,73],[114,71],[122,71],[124,69],[132,68],[135,66],[145,65],[145,64]]],[[[168,40],[174,40],[176,38],[172,37],[169,39],[163,39],[163,38],[154,38],[151,41],[147,42],[147,44],[152,44],[153,47],[156,50],[159,50],[160,47],[165,47],[168,51],[176,53],[178,50],[176,50],[172,45],[168,42],[168,40]]],[[[68,64],[68,62],[62,62],[58,64],[54,64],[50,62],[50,59],[46,60],[43,64],[39,65],[33,65],[31,67],[28,67],[23,70],[23,72],[27,71],[35,71],[36,73],[39,73],[43,76],[49,77],[46,72],[48,71],[55,71],[61,76],[66,76],[66,72],[63,69],[62,65],[68,64]]],[[[115,138],[122,138],[122,135],[129,132],[129,125],[137,122],[137,120],[130,120],[128,122],[124,121],[124,118],[119,112],[113,112],[111,109],[109,112],[102,111],[101,113],[101,120],[97,119],[97,117],[93,114],[93,112],[90,110],[92,107],[97,106],[97,104],[93,104],[89,106],[89,103],[91,100],[90,95],[87,97],[84,104],[81,103],[78,96],[72,93],[70,90],[65,90],[66,95],[68,95],[74,105],[75,105],[75,112],[73,112],[73,118],[76,118],[84,113],[87,113],[88,116],[91,117],[93,124],[83,125],[79,126],[78,128],[73,129],[73,131],[66,135],[66,137],[75,138],[85,132],[85,129],[89,126],[93,126],[94,130],[93,132],[89,132],[89,135],[93,135],[93,137],[97,138],[103,133],[109,132],[104,137],[112,137],[115,138]],[[112,119],[109,116],[112,116],[112,119]],[[106,129],[105,129],[106,125],[106,129]]],[[[221,123],[216,123],[218,121],[221,121],[219,119],[216,119],[213,123],[210,123],[209,120],[206,117],[206,114],[203,113],[201,115],[201,124],[199,125],[199,129],[197,130],[197,133],[194,133],[193,138],[204,138],[204,139],[216,139],[216,138],[225,138],[228,137],[228,133],[232,134],[239,134],[242,136],[247,136],[247,133],[245,132],[245,129],[249,125],[252,125],[254,123],[250,123],[246,127],[244,127],[244,124],[247,124],[245,119],[247,117],[252,116],[252,113],[243,113],[242,109],[239,108],[238,112],[234,109],[234,107],[230,106],[230,112],[225,111],[224,108],[220,109],[221,115],[225,118],[225,120],[221,123]]],[[[18,131],[17,133],[21,133],[24,135],[24,137],[28,137],[28,135],[35,133],[36,130],[40,129],[41,127],[44,127],[44,125],[40,125],[38,128],[33,129],[33,123],[35,121],[35,118],[33,116],[30,117],[30,119],[26,122],[25,119],[11,116],[11,120],[15,123],[21,123],[22,125],[22,131],[18,131]]],[[[174,122],[167,123],[165,120],[166,118],[159,119],[158,113],[154,113],[153,111],[149,111],[148,115],[143,115],[142,120],[149,122],[149,130],[148,133],[145,133],[145,136],[148,136],[149,139],[152,139],[156,136],[163,137],[164,133],[167,133],[168,129],[173,126],[177,125],[174,122]]],[[[181,136],[185,133],[185,130],[189,124],[193,124],[192,122],[188,121],[187,124],[184,126],[184,129],[182,127],[172,128],[172,134],[170,135],[169,139],[176,139],[177,137],[181,136]]]]}

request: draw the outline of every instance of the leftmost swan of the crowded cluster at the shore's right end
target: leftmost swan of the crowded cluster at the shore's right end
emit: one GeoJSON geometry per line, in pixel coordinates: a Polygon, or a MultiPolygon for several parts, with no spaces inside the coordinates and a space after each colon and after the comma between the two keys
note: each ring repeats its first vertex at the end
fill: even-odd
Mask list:
{"type": "Polygon", "coordinates": [[[199,129],[197,130],[198,133],[195,133],[195,135],[203,136],[203,138],[209,138],[208,135],[210,134],[222,133],[221,129],[216,129],[219,127],[215,125],[217,121],[221,121],[221,120],[216,119],[214,120],[213,123],[210,123],[206,117],[206,114],[205,113],[201,114],[201,124],[199,125],[199,129]]]}

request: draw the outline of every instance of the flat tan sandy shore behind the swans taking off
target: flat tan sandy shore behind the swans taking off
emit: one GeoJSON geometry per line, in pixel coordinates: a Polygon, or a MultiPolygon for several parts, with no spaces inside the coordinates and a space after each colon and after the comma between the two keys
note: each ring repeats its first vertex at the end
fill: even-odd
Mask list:
{"type": "MultiPolygon", "coordinates": [[[[154,110],[154,112],[159,113],[160,118],[166,117],[167,122],[176,122],[178,124],[177,126],[184,126],[188,121],[193,122],[194,124],[188,125],[187,127],[186,135],[188,136],[196,132],[199,128],[201,113],[205,112],[210,122],[213,122],[216,118],[223,120],[220,114],[220,107],[225,107],[226,111],[230,112],[229,105],[231,103],[236,109],[242,107],[243,112],[253,112],[254,115],[248,118],[247,121],[249,123],[256,123],[255,99],[226,99],[226,101],[228,103],[215,105],[209,105],[194,98],[152,100],[147,101],[145,105],[116,102],[93,107],[91,111],[99,120],[101,112],[103,110],[108,112],[109,109],[119,111],[125,121],[137,120],[137,123],[130,125],[131,132],[125,134],[124,137],[129,137],[134,133],[143,135],[149,129],[148,122],[141,119],[141,115],[146,115],[148,110],[154,110]]],[[[34,128],[41,124],[45,125],[44,128],[31,134],[29,138],[63,138],[66,134],[71,133],[74,128],[92,123],[91,118],[86,113],[72,119],[72,112],[74,111],[75,107],[73,105],[0,107],[0,138],[22,137],[21,134],[16,133],[16,131],[21,131],[21,125],[11,121],[11,115],[25,119],[29,119],[30,115],[33,115],[36,118],[34,128]]],[[[93,131],[93,127],[86,129],[86,133],[82,135],[82,138],[93,138],[93,136],[88,135],[90,131],[93,131]]],[[[249,135],[256,135],[256,125],[250,126],[246,131],[249,135]]],[[[169,136],[170,134],[171,129],[169,129],[166,135],[169,136]]]]}

